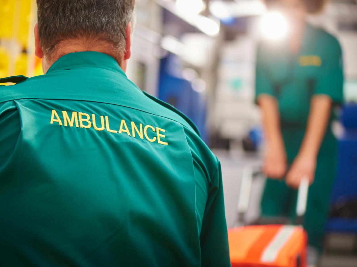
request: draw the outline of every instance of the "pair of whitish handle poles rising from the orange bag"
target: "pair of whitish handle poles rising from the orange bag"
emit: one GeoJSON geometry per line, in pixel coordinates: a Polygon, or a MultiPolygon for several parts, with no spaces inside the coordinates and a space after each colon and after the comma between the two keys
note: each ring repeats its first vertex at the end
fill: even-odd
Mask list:
{"type": "MultiPolygon", "coordinates": [[[[249,207],[250,195],[252,192],[252,180],[254,177],[261,176],[263,172],[253,171],[253,168],[247,167],[243,169],[241,188],[237,203],[238,219],[236,226],[244,225],[243,218],[249,207]]],[[[304,176],[301,179],[296,204],[296,224],[302,225],[304,220],[304,215],[306,213],[307,206],[307,196],[309,188],[308,176],[304,176]]]]}

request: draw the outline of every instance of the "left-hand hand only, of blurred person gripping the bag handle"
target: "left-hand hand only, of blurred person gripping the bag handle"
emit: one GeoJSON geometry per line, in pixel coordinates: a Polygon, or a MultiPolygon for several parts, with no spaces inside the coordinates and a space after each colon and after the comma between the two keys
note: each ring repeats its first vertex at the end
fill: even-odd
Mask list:
{"type": "Polygon", "coordinates": [[[272,147],[266,152],[263,172],[267,177],[281,179],[287,170],[286,152],[283,147],[272,147]]]}

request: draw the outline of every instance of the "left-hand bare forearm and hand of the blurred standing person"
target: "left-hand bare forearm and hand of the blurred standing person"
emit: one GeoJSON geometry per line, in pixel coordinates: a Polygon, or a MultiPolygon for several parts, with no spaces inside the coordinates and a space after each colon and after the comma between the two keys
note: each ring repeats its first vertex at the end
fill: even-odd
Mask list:
{"type": "Polygon", "coordinates": [[[276,99],[261,94],[257,103],[263,114],[266,153],[263,171],[267,177],[282,178],[287,169],[286,152],[280,129],[280,114],[276,99]]]}

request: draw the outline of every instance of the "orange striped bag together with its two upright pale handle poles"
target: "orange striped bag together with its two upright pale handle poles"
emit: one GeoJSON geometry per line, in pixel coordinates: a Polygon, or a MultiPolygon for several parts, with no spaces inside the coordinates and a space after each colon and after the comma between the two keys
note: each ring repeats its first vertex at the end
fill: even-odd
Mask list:
{"type": "MultiPolygon", "coordinates": [[[[248,209],[252,179],[259,175],[243,171],[238,199],[238,224],[248,209]]],[[[309,182],[303,178],[296,206],[299,225],[251,225],[228,230],[232,267],[306,267],[307,233],[303,229],[309,182]]]]}

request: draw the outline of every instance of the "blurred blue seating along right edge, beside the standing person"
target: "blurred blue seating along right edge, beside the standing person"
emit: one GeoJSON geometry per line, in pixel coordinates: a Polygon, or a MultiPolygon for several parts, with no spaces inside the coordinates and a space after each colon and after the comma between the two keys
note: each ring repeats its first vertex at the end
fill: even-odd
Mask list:
{"type": "MultiPolygon", "coordinates": [[[[338,143],[338,171],[331,195],[322,264],[336,264],[357,255],[357,104],[347,104],[338,143]],[[342,256],[341,256],[342,255],[342,256]]],[[[350,266],[350,265],[347,265],[350,266]]]]}

